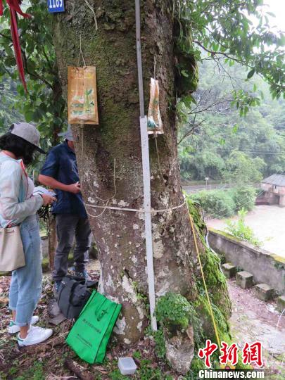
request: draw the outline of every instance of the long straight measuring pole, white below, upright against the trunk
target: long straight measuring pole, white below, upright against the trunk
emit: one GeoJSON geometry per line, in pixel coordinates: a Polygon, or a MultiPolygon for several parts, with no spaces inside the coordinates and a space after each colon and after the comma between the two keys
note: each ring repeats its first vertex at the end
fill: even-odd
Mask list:
{"type": "Polygon", "coordinates": [[[136,39],[137,39],[137,70],[139,77],[139,125],[141,128],[141,158],[143,165],[144,177],[144,224],[146,234],[146,262],[148,272],[148,297],[151,311],[151,327],[153,331],[158,329],[154,310],[156,309],[156,292],[154,287],[153,271],[153,240],[151,231],[151,172],[149,167],[149,149],[148,149],[148,132],[147,117],[144,115],[144,86],[141,65],[141,17],[140,1],[136,1],[136,39]]]}

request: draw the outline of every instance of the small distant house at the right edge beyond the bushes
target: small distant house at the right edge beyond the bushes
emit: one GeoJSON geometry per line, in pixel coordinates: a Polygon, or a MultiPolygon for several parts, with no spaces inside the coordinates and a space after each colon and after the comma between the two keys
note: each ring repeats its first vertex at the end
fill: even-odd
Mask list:
{"type": "Polygon", "coordinates": [[[261,188],[265,191],[262,194],[264,203],[285,207],[285,175],[270,175],[263,179],[261,188]]]}

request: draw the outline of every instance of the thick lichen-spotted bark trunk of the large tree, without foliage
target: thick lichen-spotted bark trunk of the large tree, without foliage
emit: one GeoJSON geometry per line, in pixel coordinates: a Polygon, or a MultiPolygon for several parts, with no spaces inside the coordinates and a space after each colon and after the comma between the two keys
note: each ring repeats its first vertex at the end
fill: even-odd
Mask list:
{"type": "MultiPolygon", "coordinates": [[[[110,199],[108,205],[144,208],[134,0],[89,2],[96,11],[98,30],[95,30],[94,16],[84,1],[66,0],[66,12],[55,17],[54,42],[65,96],[67,67],[78,65],[80,61],[80,36],[86,64],[96,65],[100,125],[84,125],[82,129],[73,125],[72,130],[82,193],[99,247],[103,289],[106,296],[123,305],[122,318],[115,331],[128,344],[141,338],[148,324],[143,297],[148,295],[144,214],[102,210],[89,205],[106,205],[102,200],[110,199]]],[[[165,132],[158,136],[160,167],[155,141],[153,137],[149,139],[151,206],[165,209],[184,202],[175,119],[175,20],[172,1],[145,0],[141,4],[145,103],[147,106],[156,57],[165,132]]],[[[153,215],[152,223],[156,296],[172,291],[195,302],[201,272],[185,205],[153,215]]],[[[198,245],[206,267],[210,261],[201,239],[198,245]]],[[[210,266],[215,277],[215,289],[210,289],[213,302],[221,305],[222,313],[227,317],[227,289],[217,269],[217,260],[211,260],[210,266]]]]}

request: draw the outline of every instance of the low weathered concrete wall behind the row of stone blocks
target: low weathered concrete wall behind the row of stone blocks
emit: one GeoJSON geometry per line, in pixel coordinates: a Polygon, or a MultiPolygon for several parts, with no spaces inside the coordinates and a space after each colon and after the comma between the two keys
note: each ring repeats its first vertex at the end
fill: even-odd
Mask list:
{"type": "Polygon", "coordinates": [[[227,262],[253,274],[256,283],[268,284],[285,293],[285,258],[213,229],[208,240],[214,251],[225,255],[227,262]]]}

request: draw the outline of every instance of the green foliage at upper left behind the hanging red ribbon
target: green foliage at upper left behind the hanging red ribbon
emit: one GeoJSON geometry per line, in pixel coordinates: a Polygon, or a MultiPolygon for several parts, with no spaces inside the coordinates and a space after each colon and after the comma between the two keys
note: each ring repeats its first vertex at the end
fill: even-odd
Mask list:
{"type": "MultiPolygon", "coordinates": [[[[11,83],[8,80],[11,78],[13,86],[9,89],[12,92],[7,92],[8,96],[1,94],[0,114],[1,109],[5,109],[11,114],[10,118],[13,118],[14,122],[23,121],[25,118],[27,122],[37,123],[42,135],[42,145],[48,148],[49,141],[46,138],[53,144],[57,139],[57,132],[65,122],[65,102],[53,49],[51,17],[45,1],[30,0],[25,11],[30,13],[32,18],[19,18],[18,28],[29,94],[25,94],[22,84],[18,81],[6,7],[0,26],[0,80],[2,83],[11,83]],[[10,94],[13,94],[13,99],[10,94]]],[[[6,122],[10,121],[0,118],[0,127],[6,128],[6,122]]]]}

